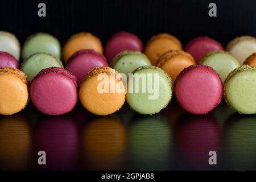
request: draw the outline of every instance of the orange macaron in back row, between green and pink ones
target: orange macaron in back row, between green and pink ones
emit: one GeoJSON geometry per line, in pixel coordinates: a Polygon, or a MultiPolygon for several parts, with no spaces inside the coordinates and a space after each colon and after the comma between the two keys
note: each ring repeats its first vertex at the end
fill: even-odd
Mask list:
{"type": "Polygon", "coordinates": [[[63,47],[63,60],[67,63],[69,57],[80,49],[93,49],[94,51],[103,53],[101,40],[89,32],[80,32],[74,34],[67,40],[63,47]]]}

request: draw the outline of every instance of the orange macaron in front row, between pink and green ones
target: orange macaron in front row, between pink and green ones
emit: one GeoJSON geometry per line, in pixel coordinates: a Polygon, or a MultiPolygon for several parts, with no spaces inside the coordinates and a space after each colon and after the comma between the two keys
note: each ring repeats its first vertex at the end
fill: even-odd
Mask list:
{"type": "Polygon", "coordinates": [[[108,76],[108,81],[98,80],[98,75],[86,77],[79,90],[82,105],[93,114],[108,115],[119,110],[125,102],[125,86],[122,81],[117,81],[113,76],[108,76]],[[109,85],[109,93],[98,92],[100,84],[109,85]],[[122,93],[110,93],[110,88],[119,88],[122,93]]]}

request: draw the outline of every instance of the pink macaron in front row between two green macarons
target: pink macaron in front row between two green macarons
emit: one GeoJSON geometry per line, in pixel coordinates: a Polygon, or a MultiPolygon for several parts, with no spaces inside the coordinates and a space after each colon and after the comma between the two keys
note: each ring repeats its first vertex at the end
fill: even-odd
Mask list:
{"type": "Polygon", "coordinates": [[[207,114],[220,104],[221,78],[207,65],[191,65],[175,80],[177,102],[192,114],[207,114]]]}

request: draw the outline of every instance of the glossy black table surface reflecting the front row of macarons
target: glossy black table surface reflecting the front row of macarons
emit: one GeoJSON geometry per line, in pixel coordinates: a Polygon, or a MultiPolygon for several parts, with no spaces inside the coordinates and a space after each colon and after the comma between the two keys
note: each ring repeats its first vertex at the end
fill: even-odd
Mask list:
{"type": "Polygon", "coordinates": [[[225,101],[205,115],[186,113],[174,99],[156,115],[124,105],[104,117],[81,104],[49,116],[30,103],[0,116],[0,169],[256,169],[256,115],[238,114],[225,101]],[[38,164],[39,151],[46,165],[38,164]],[[216,151],[216,165],[209,165],[209,151],[216,151]]]}

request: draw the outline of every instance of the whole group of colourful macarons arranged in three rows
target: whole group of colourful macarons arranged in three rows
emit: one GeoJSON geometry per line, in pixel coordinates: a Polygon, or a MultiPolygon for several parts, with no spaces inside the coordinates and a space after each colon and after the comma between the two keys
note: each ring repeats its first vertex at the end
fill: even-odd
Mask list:
{"type": "Polygon", "coordinates": [[[143,49],[130,32],[117,32],[105,47],[95,35],[80,32],[61,50],[59,40],[39,32],[24,42],[21,57],[20,64],[18,39],[0,31],[0,114],[17,113],[30,98],[49,115],[68,113],[78,100],[97,115],[112,114],[125,102],[140,114],[156,114],[173,96],[192,114],[209,113],[222,97],[239,113],[256,113],[252,36],[230,41],[226,51],[201,36],[183,51],[167,33],[152,36],[143,49]]]}

